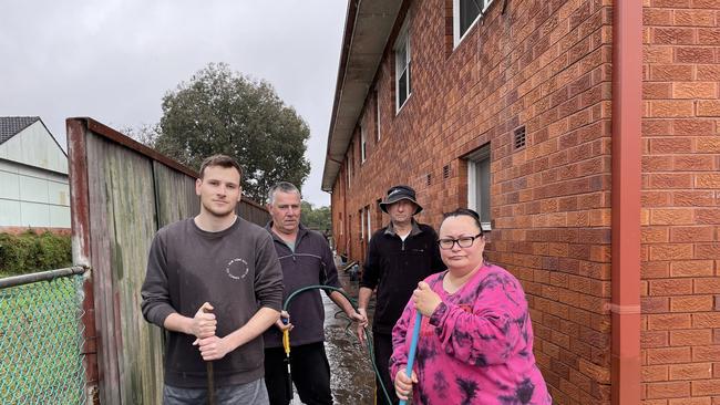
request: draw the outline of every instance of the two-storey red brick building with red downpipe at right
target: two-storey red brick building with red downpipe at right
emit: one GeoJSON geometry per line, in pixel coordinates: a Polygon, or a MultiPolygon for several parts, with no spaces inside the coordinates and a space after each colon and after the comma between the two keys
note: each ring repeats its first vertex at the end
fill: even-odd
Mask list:
{"type": "Polygon", "coordinates": [[[349,2],[322,188],[470,206],[558,404],[720,404],[720,1],[349,2]]]}

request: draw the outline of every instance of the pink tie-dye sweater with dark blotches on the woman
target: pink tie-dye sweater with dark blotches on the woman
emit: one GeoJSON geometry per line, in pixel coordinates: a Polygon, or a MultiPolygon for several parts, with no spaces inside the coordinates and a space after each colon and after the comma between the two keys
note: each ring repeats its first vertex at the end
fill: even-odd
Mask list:
{"type": "MultiPolygon", "coordinates": [[[[484,264],[455,293],[446,272],[425,279],[442,299],[422,318],[413,370],[413,404],[552,404],[533,355],[525,293],[505,269],[484,264]]],[[[408,364],[415,308],[408,302],[392,331],[390,375],[408,364]]]]}

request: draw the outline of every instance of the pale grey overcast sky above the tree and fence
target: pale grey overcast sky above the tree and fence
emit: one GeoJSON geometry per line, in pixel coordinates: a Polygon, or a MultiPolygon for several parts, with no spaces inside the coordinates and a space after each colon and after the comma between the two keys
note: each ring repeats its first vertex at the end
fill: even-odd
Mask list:
{"type": "Polygon", "coordinates": [[[270,82],[310,125],[320,190],[346,0],[4,0],[0,115],[40,116],[65,145],[64,120],[152,125],[161,98],[210,62],[270,82]]]}

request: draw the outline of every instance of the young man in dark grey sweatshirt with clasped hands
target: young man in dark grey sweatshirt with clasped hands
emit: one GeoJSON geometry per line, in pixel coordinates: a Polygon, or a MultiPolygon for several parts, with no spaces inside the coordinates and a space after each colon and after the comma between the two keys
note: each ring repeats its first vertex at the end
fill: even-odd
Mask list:
{"type": "Polygon", "coordinates": [[[210,156],[195,184],[200,212],[158,230],[143,315],[168,332],[164,404],[267,404],[263,332],[279,318],[282,271],[267,231],[235,215],[241,170],[210,156]]]}

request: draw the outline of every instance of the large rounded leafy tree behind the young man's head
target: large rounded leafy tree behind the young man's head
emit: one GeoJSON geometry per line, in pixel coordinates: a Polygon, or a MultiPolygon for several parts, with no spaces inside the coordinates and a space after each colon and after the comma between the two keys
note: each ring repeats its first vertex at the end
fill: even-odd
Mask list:
{"type": "Polygon", "coordinates": [[[301,187],[308,177],[310,129],[266,81],[210,63],[168,92],[162,107],[154,147],[194,168],[209,155],[235,157],[243,194],[256,201],[265,201],[277,181],[301,187]]]}

